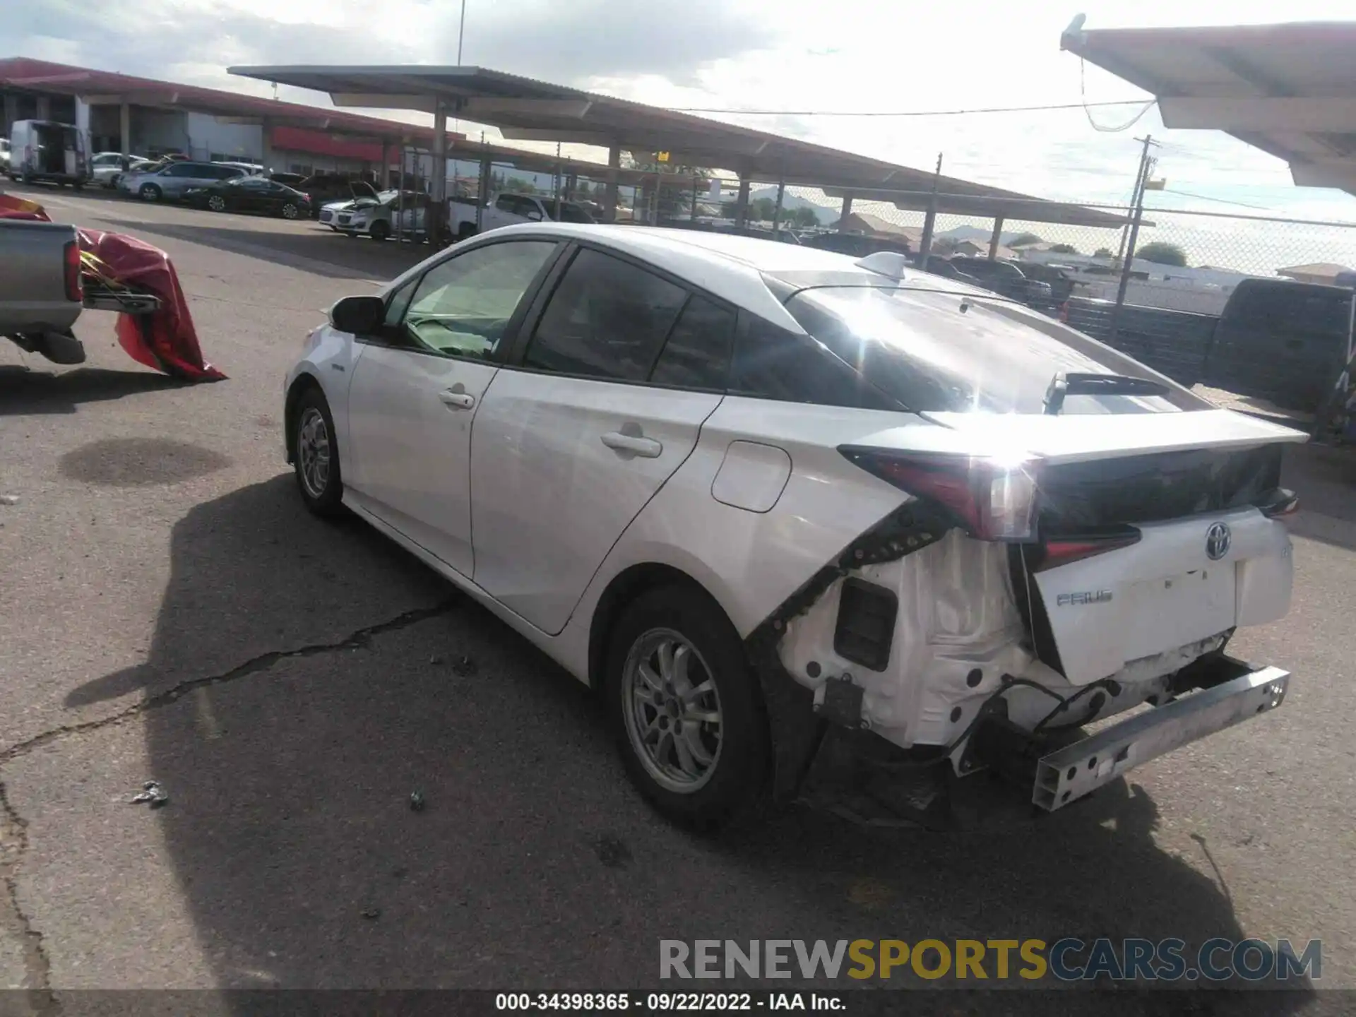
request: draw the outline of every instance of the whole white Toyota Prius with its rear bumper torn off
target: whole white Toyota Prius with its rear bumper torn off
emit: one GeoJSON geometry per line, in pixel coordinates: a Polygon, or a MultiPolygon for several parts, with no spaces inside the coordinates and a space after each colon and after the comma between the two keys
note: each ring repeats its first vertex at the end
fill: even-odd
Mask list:
{"type": "Polygon", "coordinates": [[[498,229],[335,304],[285,419],[315,513],[598,689],[694,824],[830,749],[1052,811],[1290,681],[1224,650],[1288,610],[1304,435],[899,255],[498,229]]]}

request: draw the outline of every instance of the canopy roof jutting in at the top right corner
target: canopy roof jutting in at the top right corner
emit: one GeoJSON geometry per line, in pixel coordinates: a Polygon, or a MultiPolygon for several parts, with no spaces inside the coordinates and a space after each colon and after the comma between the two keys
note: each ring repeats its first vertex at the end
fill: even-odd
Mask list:
{"type": "Polygon", "coordinates": [[[1165,127],[1211,127],[1356,194],[1356,22],[1085,30],[1060,47],[1158,99],[1165,127]]]}

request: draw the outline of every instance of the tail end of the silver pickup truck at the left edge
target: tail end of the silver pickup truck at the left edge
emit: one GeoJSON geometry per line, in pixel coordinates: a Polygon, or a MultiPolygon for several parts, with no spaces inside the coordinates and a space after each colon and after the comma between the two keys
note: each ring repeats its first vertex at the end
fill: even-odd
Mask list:
{"type": "Polygon", "coordinates": [[[83,363],[71,327],[85,308],[151,313],[159,298],[114,293],[83,277],[80,237],[61,222],[0,220],[0,335],[53,363],[83,363]]]}

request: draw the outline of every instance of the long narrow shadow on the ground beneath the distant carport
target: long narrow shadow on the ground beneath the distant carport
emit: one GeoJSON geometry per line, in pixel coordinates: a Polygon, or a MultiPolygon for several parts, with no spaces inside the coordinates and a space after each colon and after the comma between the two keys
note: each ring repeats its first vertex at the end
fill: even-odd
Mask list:
{"type": "Polygon", "coordinates": [[[136,237],[153,240],[165,236],[187,240],[335,279],[393,279],[431,254],[426,244],[397,244],[393,240],[377,243],[366,237],[347,237],[320,224],[300,231],[213,225],[210,212],[202,213],[202,222],[191,225],[111,216],[100,218],[136,237]]]}

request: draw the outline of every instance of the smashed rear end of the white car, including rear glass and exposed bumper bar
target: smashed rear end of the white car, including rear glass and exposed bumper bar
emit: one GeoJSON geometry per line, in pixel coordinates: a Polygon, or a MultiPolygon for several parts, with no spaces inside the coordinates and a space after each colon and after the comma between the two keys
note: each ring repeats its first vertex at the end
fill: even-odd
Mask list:
{"type": "Polygon", "coordinates": [[[980,770],[1059,810],[1279,706],[1290,679],[1226,648],[1290,607],[1280,469],[1304,435],[1022,309],[955,304],[788,301],[923,424],[837,446],[845,498],[903,500],[747,639],[770,701],[786,681],[811,697],[810,724],[769,711],[778,789],[827,786],[876,823],[936,818],[980,770]]]}

